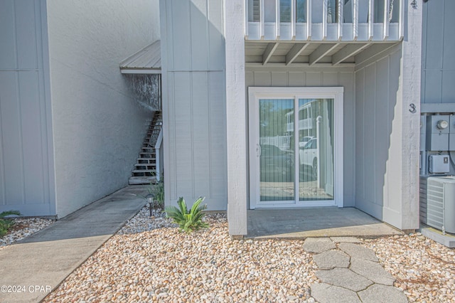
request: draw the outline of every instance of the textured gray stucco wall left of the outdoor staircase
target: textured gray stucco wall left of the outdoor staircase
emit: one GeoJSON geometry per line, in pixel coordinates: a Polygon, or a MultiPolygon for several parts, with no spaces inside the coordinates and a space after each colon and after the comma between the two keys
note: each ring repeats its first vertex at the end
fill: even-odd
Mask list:
{"type": "Polygon", "coordinates": [[[126,186],[150,112],[119,63],[159,39],[159,1],[48,0],[59,217],[126,186]]]}

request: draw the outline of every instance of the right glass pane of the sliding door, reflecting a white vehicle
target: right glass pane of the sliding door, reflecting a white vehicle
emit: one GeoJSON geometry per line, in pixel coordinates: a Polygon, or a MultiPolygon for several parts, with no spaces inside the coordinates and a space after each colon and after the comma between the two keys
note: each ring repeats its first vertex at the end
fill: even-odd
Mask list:
{"type": "Polygon", "coordinates": [[[333,200],[333,99],[299,99],[299,201],[333,200]]]}

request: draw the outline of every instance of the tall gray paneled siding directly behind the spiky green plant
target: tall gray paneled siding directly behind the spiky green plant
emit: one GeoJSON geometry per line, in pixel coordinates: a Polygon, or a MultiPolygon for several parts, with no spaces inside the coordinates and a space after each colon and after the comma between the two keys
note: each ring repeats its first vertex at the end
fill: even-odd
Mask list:
{"type": "Polygon", "coordinates": [[[166,206],[228,202],[222,0],[161,0],[166,206]]]}

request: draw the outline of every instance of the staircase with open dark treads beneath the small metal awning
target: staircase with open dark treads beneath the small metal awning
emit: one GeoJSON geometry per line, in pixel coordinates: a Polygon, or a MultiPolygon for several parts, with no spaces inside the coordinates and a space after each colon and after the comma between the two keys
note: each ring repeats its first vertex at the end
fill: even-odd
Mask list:
{"type": "Polygon", "coordinates": [[[137,163],[134,164],[132,176],[129,178],[130,185],[156,183],[156,157],[158,155],[156,154],[155,144],[162,126],[163,116],[161,112],[155,112],[139,152],[137,163]]]}

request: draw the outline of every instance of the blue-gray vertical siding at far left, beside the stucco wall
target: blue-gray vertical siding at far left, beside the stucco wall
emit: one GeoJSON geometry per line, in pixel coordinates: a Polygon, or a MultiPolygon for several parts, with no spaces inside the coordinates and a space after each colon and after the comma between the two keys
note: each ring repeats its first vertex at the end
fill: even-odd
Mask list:
{"type": "Polygon", "coordinates": [[[0,1],[0,212],[55,215],[45,1],[0,1]]]}

